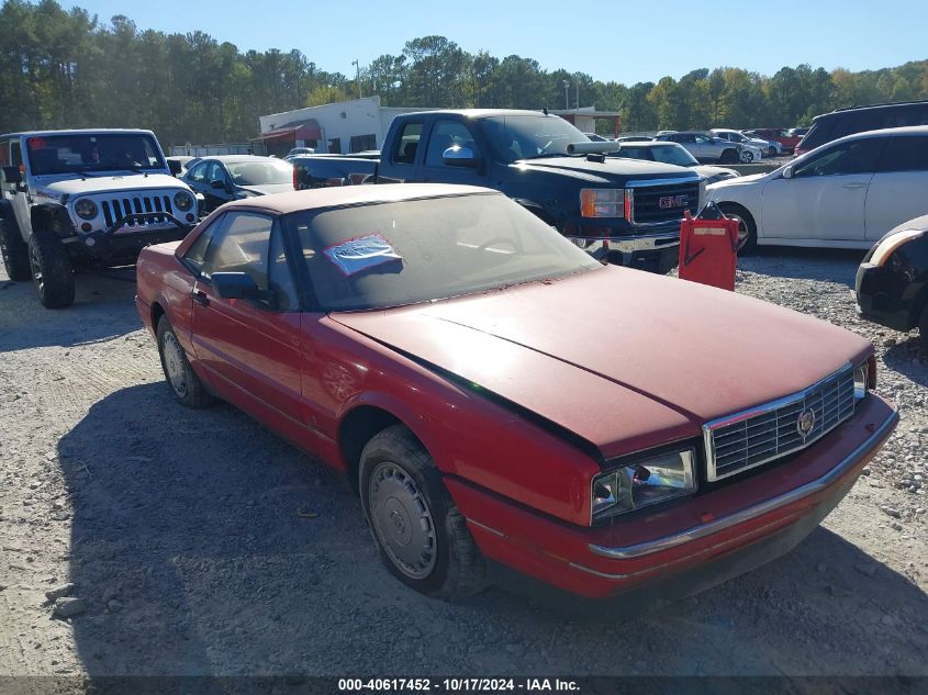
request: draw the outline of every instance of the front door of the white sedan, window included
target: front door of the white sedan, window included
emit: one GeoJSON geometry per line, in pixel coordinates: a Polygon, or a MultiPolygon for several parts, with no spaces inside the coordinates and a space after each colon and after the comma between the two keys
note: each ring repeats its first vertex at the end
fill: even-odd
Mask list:
{"type": "Polygon", "coordinates": [[[763,237],[862,242],[864,201],[885,137],[863,137],[826,147],[768,181],[761,197],[763,237]]]}

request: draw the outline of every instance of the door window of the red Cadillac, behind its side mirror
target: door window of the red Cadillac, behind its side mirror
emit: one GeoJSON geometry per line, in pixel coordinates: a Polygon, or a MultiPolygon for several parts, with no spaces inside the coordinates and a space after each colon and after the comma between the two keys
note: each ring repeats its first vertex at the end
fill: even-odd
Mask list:
{"type": "Polygon", "coordinates": [[[206,249],[202,274],[244,272],[260,290],[268,289],[268,250],[273,220],[247,212],[230,212],[206,249]]]}

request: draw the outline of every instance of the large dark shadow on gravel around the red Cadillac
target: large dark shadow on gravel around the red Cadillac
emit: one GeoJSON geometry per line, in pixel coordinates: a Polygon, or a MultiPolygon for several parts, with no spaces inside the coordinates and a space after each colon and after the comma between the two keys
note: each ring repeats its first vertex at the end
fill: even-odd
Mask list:
{"type": "Polygon", "coordinates": [[[824,528],[659,613],[566,619],[499,588],[459,605],[409,590],[327,469],[163,383],[97,402],[58,460],[91,676],[928,674],[925,594],[824,528]]]}

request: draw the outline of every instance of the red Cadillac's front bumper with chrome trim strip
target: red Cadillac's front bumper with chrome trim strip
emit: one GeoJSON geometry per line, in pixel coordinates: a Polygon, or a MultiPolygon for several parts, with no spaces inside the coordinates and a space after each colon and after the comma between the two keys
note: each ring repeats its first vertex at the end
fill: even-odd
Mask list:
{"type": "Polygon", "coordinates": [[[703,591],[798,543],[838,504],[898,421],[871,394],[827,437],[780,464],[635,518],[581,528],[467,482],[448,487],[481,551],[588,597],[658,603],[703,591]]]}

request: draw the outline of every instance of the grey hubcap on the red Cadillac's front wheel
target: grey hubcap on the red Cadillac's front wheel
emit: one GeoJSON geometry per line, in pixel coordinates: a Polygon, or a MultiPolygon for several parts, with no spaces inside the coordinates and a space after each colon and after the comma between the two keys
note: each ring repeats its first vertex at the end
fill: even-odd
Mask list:
{"type": "Polygon", "coordinates": [[[437,536],[432,512],[412,475],[396,463],[378,463],[368,485],[373,530],[393,564],[411,579],[435,569],[437,536]]]}

